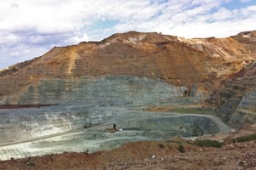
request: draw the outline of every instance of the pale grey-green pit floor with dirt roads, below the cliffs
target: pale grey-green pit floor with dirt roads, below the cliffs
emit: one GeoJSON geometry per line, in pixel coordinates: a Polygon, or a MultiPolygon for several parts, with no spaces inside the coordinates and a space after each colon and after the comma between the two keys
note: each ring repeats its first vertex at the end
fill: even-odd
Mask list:
{"type": "Polygon", "coordinates": [[[1,160],[71,151],[93,153],[134,141],[231,131],[216,116],[140,111],[127,106],[52,105],[0,112],[1,160]],[[109,133],[113,124],[117,131],[109,133]]]}

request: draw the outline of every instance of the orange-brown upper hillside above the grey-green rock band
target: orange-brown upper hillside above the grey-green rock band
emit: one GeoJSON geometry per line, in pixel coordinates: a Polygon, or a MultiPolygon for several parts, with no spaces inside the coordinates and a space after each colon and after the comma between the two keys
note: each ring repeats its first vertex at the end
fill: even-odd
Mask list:
{"type": "MultiPolygon", "coordinates": [[[[106,76],[160,80],[183,87],[182,95],[196,85],[195,94],[207,99],[221,81],[255,60],[251,40],[254,37],[239,39],[253,33],[244,34],[234,38],[184,39],[131,31],[115,34],[101,42],[53,48],[38,58],[1,71],[0,101],[24,105],[66,103],[69,102],[67,98],[72,99],[71,95],[77,95],[68,89],[83,88],[84,78],[106,76]],[[48,82],[49,86],[61,83],[61,87],[46,93],[45,83],[48,82]],[[74,82],[76,87],[73,87],[74,82]]],[[[76,98],[79,100],[78,96],[76,98]]]]}

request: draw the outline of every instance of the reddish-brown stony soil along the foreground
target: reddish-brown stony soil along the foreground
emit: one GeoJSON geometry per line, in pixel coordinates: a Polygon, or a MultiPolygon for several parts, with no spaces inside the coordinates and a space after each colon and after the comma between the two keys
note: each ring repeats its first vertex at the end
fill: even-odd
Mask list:
{"type": "Polygon", "coordinates": [[[256,169],[256,141],[232,139],[256,132],[256,124],[236,133],[206,136],[224,142],[221,148],[200,147],[179,137],[124,144],[96,153],[63,153],[0,161],[0,169],[256,169]],[[182,148],[182,149],[181,149],[182,148]]]}

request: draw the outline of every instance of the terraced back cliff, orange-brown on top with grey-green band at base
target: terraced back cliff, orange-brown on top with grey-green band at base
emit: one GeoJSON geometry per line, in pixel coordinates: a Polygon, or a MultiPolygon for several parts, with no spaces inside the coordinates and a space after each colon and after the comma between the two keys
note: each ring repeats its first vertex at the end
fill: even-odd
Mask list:
{"type": "Polygon", "coordinates": [[[131,31],[53,48],[0,72],[0,103],[199,103],[256,60],[254,42],[254,31],[195,39],[131,31]]]}

